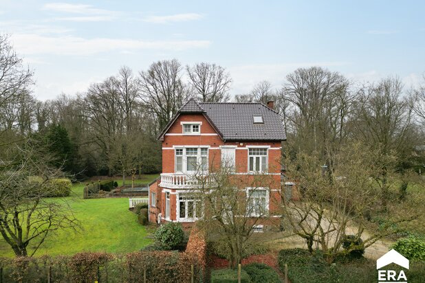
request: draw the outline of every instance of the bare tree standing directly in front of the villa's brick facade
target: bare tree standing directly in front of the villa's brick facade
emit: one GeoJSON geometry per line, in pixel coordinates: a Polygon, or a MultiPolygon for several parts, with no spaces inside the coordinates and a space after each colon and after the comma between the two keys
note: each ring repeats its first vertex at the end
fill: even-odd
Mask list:
{"type": "Polygon", "coordinates": [[[196,184],[192,197],[195,207],[199,207],[197,217],[204,211],[198,225],[206,229],[212,240],[224,245],[230,265],[236,267],[256,225],[270,216],[267,196],[270,195],[270,202],[278,201],[270,194],[272,178],[264,174],[234,174],[235,168],[226,162],[221,166],[212,162],[208,173],[201,166],[191,177],[196,184]]]}

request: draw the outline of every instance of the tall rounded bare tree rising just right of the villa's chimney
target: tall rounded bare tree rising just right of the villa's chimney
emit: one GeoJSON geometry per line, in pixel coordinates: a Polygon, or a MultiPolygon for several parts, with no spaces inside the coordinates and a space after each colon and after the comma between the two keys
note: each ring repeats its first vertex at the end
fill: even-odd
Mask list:
{"type": "MultiPolygon", "coordinates": [[[[340,73],[320,67],[296,69],[287,76],[281,98],[292,131],[294,150],[320,152],[331,157],[349,135],[348,125],[355,98],[349,81],[340,73]]],[[[330,170],[332,159],[324,159],[330,170]]]]}

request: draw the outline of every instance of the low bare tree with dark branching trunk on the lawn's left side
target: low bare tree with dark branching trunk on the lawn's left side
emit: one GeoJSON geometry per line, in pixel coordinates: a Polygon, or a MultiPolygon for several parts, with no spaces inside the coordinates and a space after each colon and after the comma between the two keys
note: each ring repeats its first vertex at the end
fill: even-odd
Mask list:
{"type": "Polygon", "coordinates": [[[10,150],[14,158],[0,166],[0,234],[16,256],[33,256],[48,235],[77,229],[78,221],[65,199],[46,198],[57,190],[52,180],[62,176],[47,166],[49,155],[30,142],[10,150]]]}

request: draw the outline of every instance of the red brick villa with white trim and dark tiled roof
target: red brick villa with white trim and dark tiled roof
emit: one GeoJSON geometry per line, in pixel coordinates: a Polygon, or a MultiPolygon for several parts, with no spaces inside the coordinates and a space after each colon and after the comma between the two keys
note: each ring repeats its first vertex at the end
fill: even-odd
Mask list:
{"type": "Polygon", "coordinates": [[[162,141],[162,174],[149,184],[149,221],[188,225],[197,220],[196,201],[188,194],[189,177],[195,173],[194,163],[205,164],[208,172],[212,159],[230,160],[234,174],[270,175],[270,188],[255,188],[255,197],[270,214],[278,210],[281,143],[286,136],[273,102],[265,106],[189,100],[158,139],[162,141]]]}

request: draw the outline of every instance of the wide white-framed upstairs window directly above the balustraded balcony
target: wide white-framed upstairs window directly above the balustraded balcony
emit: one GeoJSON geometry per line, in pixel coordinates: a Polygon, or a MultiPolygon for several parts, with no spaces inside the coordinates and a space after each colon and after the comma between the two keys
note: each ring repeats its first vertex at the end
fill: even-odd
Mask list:
{"type": "Polygon", "coordinates": [[[208,171],[208,148],[175,148],[175,172],[208,171]]]}

